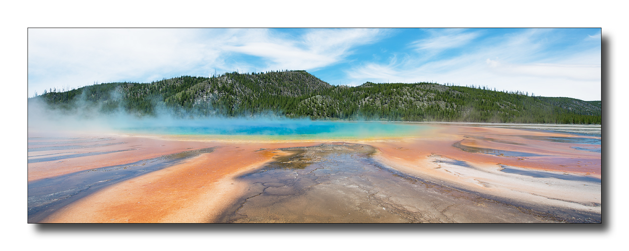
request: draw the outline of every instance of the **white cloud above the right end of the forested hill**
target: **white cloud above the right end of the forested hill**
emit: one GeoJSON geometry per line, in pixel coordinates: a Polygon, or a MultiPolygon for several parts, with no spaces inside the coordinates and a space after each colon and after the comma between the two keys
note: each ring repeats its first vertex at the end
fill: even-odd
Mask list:
{"type": "Polygon", "coordinates": [[[548,30],[527,30],[492,43],[477,43],[476,50],[457,57],[426,62],[406,57],[395,63],[367,63],[347,70],[354,82],[454,83],[489,86],[500,91],[528,91],[538,96],[601,99],[601,52],[591,50],[548,57],[544,37],[548,30]]]}

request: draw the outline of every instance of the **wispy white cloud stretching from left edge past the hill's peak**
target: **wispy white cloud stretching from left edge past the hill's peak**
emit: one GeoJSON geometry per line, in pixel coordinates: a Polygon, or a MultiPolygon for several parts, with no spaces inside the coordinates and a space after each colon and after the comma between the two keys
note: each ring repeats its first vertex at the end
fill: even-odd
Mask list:
{"type": "Polygon", "coordinates": [[[97,82],[150,82],[240,70],[313,70],[337,64],[386,30],[29,29],[28,92],[97,82]],[[238,54],[260,62],[238,62],[238,54]]]}

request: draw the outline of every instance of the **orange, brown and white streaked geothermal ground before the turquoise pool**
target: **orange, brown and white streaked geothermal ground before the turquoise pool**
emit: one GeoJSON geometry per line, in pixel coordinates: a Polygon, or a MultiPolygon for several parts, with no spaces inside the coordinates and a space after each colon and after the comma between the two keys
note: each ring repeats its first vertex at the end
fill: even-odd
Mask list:
{"type": "Polygon", "coordinates": [[[435,124],[301,140],[29,130],[28,222],[600,223],[591,129],[435,124]]]}

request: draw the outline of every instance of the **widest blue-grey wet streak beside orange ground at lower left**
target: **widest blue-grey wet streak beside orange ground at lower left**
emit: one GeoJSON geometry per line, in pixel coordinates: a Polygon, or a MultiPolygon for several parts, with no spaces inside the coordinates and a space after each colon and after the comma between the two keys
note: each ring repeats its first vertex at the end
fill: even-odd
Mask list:
{"type": "MultiPolygon", "coordinates": [[[[28,183],[28,222],[40,222],[46,216],[96,192],[106,186],[138,177],[148,172],[164,169],[201,153],[213,152],[213,148],[203,148],[138,162],[102,167],[63,176],[40,179],[28,183]]],[[[113,151],[119,152],[119,151],[113,151]]],[[[99,153],[104,154],[107,152],[99,153]]],[[[65,155],[71,158],[72,155],[65,155]]],[[[85,155],[82,155],[85,156],[85,155]]],[[[74,156],[79,157],[79,156],[74,156]]],[[[30,161],[29,161],[30,162],[30,161]]]]}

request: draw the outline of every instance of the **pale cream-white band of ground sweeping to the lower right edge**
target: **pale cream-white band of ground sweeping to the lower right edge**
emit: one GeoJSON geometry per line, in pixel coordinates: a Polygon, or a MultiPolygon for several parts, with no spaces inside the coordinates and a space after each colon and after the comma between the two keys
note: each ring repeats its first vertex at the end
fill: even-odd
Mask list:
{"type": "Polygon", "coordinates": [[[434,153],[428,157],[432,159],[431,162],[438,165],[435,169],[443,170],[454,177],[467,177],[484,188],[474,189],[474,187],[461,186],[452,180],[432,179],[435,183],[456,187],[459,191],[470,192],[482,198],[511,204],[518,208],[530,209],[542,215],[553,215],[565,222],[601,223],[601,214],[597,213],[601,203],[597,203],[596,198],[589,198],[589,196],[596,196],[596,191],[600,191],[601,179],[598,177],[524,169],[503,164],[498,164],[499,169],[495,171],[434,153]],[[520,177],[514,177],[511,174],[517,174],[520,177]],[[552,179],[556,180],[552,181],[552,179]],[[496,192],[496,189],[507,189],[515,193],[501,194],[501,192],[496,192]],[[537,198],[526,202],[518,198],[518,194],[528,194],[537,198]],[[560,206],[559,204],[562,203],[557,204],[558,201],[564,205],[560,206]]]}

